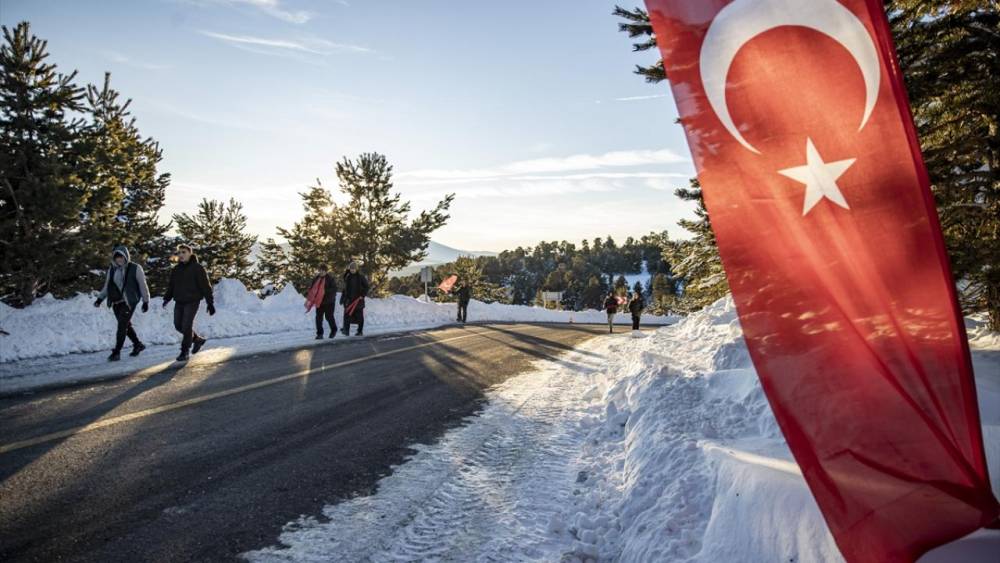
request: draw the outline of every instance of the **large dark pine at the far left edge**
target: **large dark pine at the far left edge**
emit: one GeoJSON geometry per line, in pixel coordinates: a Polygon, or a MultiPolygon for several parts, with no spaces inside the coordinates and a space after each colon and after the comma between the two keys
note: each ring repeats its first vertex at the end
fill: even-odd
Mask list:
{"type": "MultiPolygon", "coordinates": [[[[30,305],[46,291],[88,275],[92,236],[107,220],[97,194],[97,213],[87,214],[84,122],[76,73],[56,72],[46,62],[46,42],[28,23],[2,27],[0,45],[0,287],[5,300],[30,305]]],[[[106,250],[106,249],[102,249],[106,250]]]]}

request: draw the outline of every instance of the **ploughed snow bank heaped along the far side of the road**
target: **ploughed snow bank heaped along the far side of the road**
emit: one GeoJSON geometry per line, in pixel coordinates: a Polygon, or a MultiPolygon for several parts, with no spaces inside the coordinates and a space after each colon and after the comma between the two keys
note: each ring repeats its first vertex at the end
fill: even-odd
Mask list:
{"type": "MultiPolygon", "coordinates": [[[[217,313],[209,316],[204,304],[198,315],[198,332],[208,338],[232,338],[254,334],[280,334],[314,330],[313,314],[306,314],[305,299],[291,286],[280,293],[258,298],[236,280],[223,279],[215,286],[217,313]]],[[[173,326],[173,305],[161,307],[154,298],[149,312],[137,311],[132,323],[143,343],[177,344],[180,336],[173,326]]],[[[337,322],[343,308],[337,305],[337,322]]],[[[402,295],[368,299],[365,328],[369,332],[388,332],[432,328],[454,322],[454,303],[426,303],[402,295]]],[[[511,322],[607,322],[601,311],[552,311],[536,307],[480,303],[469,306],[469,321],[511,322]]],[[[620,322],[627,315],[619,315],[620,322]]],[[[649,324],[666,324],[667,317],[645,316],[649,324]]],[[[0,363],[32,358],[110,350],[114,345],[115,319],[104,305],[94,308],[94,296],[80,294],[59,300],[46,295],[30,307],[14,309],[0,304],[0,363]]]]}

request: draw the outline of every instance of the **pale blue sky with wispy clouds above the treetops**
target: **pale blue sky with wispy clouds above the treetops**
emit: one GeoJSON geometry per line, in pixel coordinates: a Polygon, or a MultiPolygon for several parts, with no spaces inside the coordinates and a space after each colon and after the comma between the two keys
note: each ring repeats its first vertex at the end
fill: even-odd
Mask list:
{"type": "MultiPolygon", "coordinates": [[[[625,2],[629,4],[629,2],[625,2]]],[[[0,0],[81,82],[133,99],[173,176],[166,212],[243,202],[262,236],[298,192],[377,151],[415,209],[457,194],[434,239],[502,250],[617,239],[690,215],[666,84],[632,74],[613,2],[0,0]]]]}

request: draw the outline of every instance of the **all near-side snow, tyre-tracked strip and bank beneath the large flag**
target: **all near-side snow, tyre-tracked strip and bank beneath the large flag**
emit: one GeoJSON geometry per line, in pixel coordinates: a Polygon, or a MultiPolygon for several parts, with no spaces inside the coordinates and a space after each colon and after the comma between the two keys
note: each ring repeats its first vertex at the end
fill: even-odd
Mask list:
{"type": "MultiPolygon", "coordinates": [[[[842,561],[767,405],[732,302],[631,336],[595,338],[539,362],[494,388],[467,424],[416,446],[376,494],[292,522],[280,545],[245,556],[842,561]]],[[[1000,490],[1000,339],[975,321],[970,336],[1000,490]]],[[[1000,535],[989,534],[974,539],[1000,535]]],[[[939,551],[924,561],[970,557],[939,551]]]]}

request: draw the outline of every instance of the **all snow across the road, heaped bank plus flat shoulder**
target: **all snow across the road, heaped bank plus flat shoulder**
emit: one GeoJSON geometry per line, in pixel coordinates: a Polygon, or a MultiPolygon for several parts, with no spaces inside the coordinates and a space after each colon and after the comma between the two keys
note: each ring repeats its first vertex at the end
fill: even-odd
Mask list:
{"type": "MultiPolygon", "coordinates": [[[[133,325],[148,347],[138,358],[122,361],[106,358],[114,346],[115,320],[107,307],[94,308],[94,297],[78,295],[59,300],[51,296],[30,307],[14,309],[0,303],[0,394],[26,391],[74,381],[106,379],[170,362],[177,356],[180,335],[173,328],[173,305],[161,307],[160,298],[150,302],[148,313],[137,311],[133,325]]],[[[313,344],[314,314],[306,313],[305,299],[292,287],[267,299],[258,298],[236,280],[224,279],[215,288],[217,313],[202,311],[197,331],[210,339],[194,360],[215,362],[227,357],[313,344]]],[[[365,308],[365,333],[411,331],[440,327],[455,320],[454,303],[425,303],[395,295],[369,299],[365,308]]],[[[343,309],[338,305],[338,323],[343,309]]],[[[473,301],[470,322],[605,323],[602,311],[553,311],[501,303],[473,301]]],[[[645,315],[647,324],[666,324],[673,317],[645,315]]],[[[630,322],[618,315],[618,322],[630,322]]]]}

